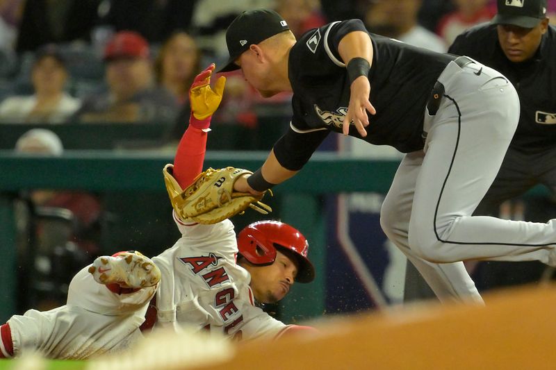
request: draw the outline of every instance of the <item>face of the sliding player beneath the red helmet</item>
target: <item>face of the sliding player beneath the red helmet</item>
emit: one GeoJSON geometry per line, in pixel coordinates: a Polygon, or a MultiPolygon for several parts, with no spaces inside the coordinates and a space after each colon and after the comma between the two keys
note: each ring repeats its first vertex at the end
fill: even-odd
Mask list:
{"type": "Polygon", "coordinates": [[[251,289],[257,301],[276,303],[290,291],[297,276],[297,265],[277,251],[276,260],[267,266],[246,267],[251,274],[251,289]]]}

